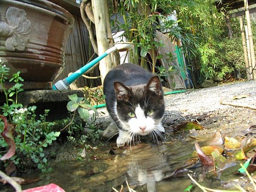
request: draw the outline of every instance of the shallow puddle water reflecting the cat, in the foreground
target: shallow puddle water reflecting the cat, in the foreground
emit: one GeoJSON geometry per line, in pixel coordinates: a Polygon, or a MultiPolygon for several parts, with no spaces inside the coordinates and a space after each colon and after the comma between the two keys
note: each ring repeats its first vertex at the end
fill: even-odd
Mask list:
{"type": "MultiPolygon", "coordinates": [[[[51,163],[52,173],[35,173],[28,178],[40,178],[37,183],[23,186],[23,189],[56,183],[65,191],[184,191],[191,180],[188,174],[200,178],[203,168],[198,160],[191,157],[198,140],[181,139],[180,136],[159,143],[131,145],[123,149],[98,151],[96,158],[65,160],[51,163]],[[102,152],[103,151],[103,152],[102,152]],[[96,160],[93,160],[96,159],[96,160]]],[[[201,145],[205,143],[201,141],[201,145]]],[[[229,176],[230,177],[230,176],[229,176]]],[[[232,175],[233,177],[233,175],[232,175]]],[[[204,186],[224,189],[224,183],[204,177],[204,186]]],[[[194,191],[201,191],[196,187],[194,191]]]]}

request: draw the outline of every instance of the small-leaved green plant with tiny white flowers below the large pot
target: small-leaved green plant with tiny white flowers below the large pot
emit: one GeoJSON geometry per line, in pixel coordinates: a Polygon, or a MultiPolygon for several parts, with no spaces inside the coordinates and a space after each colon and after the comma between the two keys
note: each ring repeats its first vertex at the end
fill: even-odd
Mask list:
{"type": "MultiPolygon", "coordinates": [[[[13,127],[14,142],[16,144],[16,153],[10,158],[16,166],[20,169],[24,169],[30,165],[28,159],[37,164],[38,169],[42,172],[49,172],[52,169],[47,168],[47,158],[44,154],[44,148],[52,144],[52,141],[60,135],[60,132],[51,131],[52,123],[46,121],[46,116],[49,110],[46,110],[40,118],[36,118],[35,110],[36,106],[23,107],[18,103],[18,93],[23,91],[22,77],[18,73],[13,74],[10,82],[15,82],[15,85],[6,90],[3,83],[7,80],[9,68],[0,64],[0,83],[3,93],[5,94],[6,101],[0,107],[3,116],[9,118],[10,126],[13,127]],[[13,98],[15,97],[15,98],[13,98]]],[[[0,133],[3,131],[3,124],[0,127],[0,133]]],[[[0,138],[0,148],[5,151],[7,144],[0,138]]]]}

